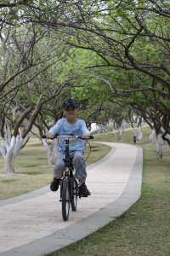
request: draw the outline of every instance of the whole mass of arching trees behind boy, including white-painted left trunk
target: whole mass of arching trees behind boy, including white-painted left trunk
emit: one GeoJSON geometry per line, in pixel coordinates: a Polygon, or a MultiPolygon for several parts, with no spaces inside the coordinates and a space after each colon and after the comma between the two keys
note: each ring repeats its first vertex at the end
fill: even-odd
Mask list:
{"type": "Polygon", "coordinates": [[[0,12],[5,172],[32,125],[41,137],[69,96],[88,126],[140,116],[169,143],[167,1],[2,1],[0,12]]]}

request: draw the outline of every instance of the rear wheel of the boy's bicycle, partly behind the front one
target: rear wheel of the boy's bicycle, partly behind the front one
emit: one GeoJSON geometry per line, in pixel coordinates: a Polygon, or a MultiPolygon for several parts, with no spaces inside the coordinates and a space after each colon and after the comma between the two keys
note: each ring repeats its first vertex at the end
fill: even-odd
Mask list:
{"type": "Polygon", "coordinates": [[[77,211],[77,196],[78,196],[77,180],[74,177],[72,177],[71,178],[71,209],[72,209],[72,212],[77,211]]]}

